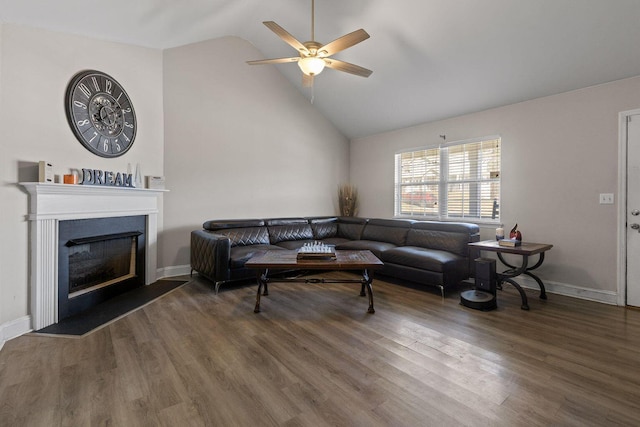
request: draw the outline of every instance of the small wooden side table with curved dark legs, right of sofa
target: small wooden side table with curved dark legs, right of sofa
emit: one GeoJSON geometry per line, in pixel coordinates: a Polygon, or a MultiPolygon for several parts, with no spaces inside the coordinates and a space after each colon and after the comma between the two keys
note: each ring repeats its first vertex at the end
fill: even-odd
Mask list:
{"type": "Polygon", "coordinates": [[[520,297],[522,298],[521,308],[523,310],[529,310],[527,294],[525,294],[520,284],[513,280],[515,277],[521,274],[527,275],[534,279],[536,283],[538,283],[538,286],[540,286],[540,299],[547,299],[547,293],[544,288],[544,283],[542,283],[542,280],[540,280],[540,278],[533,274],[531,271],[542,265],[542,263],[544,262],[544,253],[551,249],[553,245],[547,243],[522,242],[520,246],[510,247],[500,246],[500,244],[496,240],[484,240],[482,242],[469,243],[469,247],[479,249],[481,251],[496,252],[496,255],[498,256],[500,262],[509,267],[508,270],[505,270],[502,273],[497,273],[498,286],[506,282],[516,288],[520,293],[520,297]],[[522,257],[521,265],[511,265],[504,259],[503,254],[520,255],[522,257]],[[529,267],[529,256],[536,254],[538,255],[538,262],[536,262],[532,267],[529,267]]]}

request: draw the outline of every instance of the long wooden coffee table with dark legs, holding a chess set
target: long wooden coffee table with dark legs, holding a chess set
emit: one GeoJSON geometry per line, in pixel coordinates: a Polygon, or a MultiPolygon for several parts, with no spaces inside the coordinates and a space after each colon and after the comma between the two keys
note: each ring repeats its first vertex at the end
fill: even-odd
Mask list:
{"type": "Polygon", "coordinates": [[[360,283],[360,296],[369,296],[368,313],[375,313],[373,308],[373,274],[371,270],[384,264],[371,251],[335,251],[335,259],[297,259],[298,252],[290,250],[266,251],[245,263],[245,267],[256,270],[258,294],[254,313],[260,312],[260,295],[269,295],[268,283],[360,283]],[[358,270],[362,271],[361,279],[324,279],[324,278],[273,278],[268,277],[269,270],[358,270]],[[264,293],[262,288],[264,287],[264,293]]]}

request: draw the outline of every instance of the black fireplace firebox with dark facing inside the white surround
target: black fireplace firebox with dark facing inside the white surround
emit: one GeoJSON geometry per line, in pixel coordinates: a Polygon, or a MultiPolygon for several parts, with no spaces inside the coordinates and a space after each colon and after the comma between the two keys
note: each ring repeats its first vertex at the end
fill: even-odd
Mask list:
{"type": "Polygon", "coordinates": [[[60,221],[58,320],[144,285],[146,217],[60,221]]]}

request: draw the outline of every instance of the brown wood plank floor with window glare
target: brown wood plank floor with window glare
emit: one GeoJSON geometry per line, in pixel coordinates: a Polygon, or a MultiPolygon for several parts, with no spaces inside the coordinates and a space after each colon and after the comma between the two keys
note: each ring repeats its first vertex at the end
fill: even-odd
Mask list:
{"type": "Polygon", "coordinates": [[[255,286],[196,279],[81,339],[16,338],[0,425],[640,425],[640,312],[374,291],[367,314],[357,285],[273,284],[254,314],[255,286]]]}

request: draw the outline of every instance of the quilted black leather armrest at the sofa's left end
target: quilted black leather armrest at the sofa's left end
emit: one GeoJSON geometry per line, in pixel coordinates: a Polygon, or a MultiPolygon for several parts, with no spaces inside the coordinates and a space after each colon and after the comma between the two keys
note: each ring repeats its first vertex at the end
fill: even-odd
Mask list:
{"type": "Polygon", "coordinates": [[[191,232],[191,271],[215,283],[229,280],[231,241],[222,234],[206,230],[191,232]]]}

